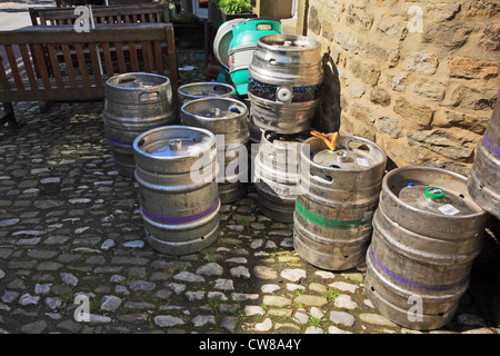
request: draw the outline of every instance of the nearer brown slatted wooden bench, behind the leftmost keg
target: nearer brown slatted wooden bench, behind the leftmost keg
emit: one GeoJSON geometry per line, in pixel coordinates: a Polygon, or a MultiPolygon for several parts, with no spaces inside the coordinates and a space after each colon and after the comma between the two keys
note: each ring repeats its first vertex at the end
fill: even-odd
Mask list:
{"type": "Polygon", "coordinates": [[[170,79],[173,92],[178,88],[171,23],[97,24],[80,33],[72,24],[34,26],[0,31],[2,50],[0,126],[17,125],[16,101],[103,99],[106,81],[117,73],[158,73],[170,79]]]}

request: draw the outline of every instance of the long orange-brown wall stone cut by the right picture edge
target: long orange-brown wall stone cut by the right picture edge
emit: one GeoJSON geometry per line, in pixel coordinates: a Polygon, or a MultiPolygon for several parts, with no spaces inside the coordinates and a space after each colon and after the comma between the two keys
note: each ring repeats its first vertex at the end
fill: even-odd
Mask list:
{"type": "Polygon", "coordinates": [[[456,57],[448,63],[448,71],[454,78],[490,79],[498,76],[498,63],[456,57]]]}

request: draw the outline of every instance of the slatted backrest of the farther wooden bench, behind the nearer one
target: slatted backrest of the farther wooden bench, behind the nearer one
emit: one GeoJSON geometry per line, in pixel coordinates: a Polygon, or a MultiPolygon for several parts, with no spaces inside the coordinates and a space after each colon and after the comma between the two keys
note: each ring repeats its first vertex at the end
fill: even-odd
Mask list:
{"type": "MultiPolygon", "coordinates": [[[[30,8],[33,26],[72,24],[80,17],[74,8],[30,8]]],[[[94,23],[170,22],[167,4],[128,4],[92,7],[94,23]]]]}

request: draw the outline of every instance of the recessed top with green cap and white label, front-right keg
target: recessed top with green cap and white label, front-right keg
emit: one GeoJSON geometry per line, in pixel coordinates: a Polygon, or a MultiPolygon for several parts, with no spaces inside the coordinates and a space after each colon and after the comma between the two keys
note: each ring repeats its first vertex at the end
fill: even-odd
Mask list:
{"type": "Polygon", "coordinates": [[[440,168],[402,167],[384,177],[384,189],[413,209],[450,217],[483,212],[471,199],[467,178],[440,168]]]}

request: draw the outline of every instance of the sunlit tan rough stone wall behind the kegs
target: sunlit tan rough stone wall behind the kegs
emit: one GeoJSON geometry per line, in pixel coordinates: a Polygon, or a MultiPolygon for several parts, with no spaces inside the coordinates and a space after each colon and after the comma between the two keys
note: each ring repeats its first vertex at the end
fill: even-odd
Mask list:
{"type": "Polygon", "coordinates": [[[303,0],[321,42],[323,131],[380,145],[397,166],[469,172],[500,89],[500,1],[303,0]]]}

